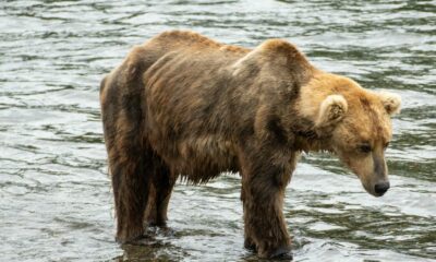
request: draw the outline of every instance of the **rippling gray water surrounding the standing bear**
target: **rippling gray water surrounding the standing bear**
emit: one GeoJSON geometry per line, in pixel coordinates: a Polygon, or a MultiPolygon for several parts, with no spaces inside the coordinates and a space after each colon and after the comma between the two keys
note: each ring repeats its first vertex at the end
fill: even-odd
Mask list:
{"type": "Polygon", "coordinates": [[[284,38],[323,70],[400,94],[391,190],[373,198],[335,157],[304,155],[287,224],[295,261],[436,260],[436,1],[138,2],[0,2],[1,261],[256,261],[237,175],[177,184],[172,231],[114,241],[99,81],[171,28],[247,47],[284,38]]]}

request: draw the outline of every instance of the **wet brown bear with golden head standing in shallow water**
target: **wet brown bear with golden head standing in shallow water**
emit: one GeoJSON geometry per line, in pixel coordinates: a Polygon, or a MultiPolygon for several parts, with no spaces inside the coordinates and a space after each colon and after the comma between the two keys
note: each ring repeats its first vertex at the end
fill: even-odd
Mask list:
{"type": "Polygon", "coordinates": [[[384,153],[400,97],[316,69],[286,40],[247,49],[162,33],[102,80],[100,103],[121,242],[166,224],[179,177],[232,171],[245,247],[290,259],[282,205],[302,152],[338,155],[373,195],[389,188],[384,153]]]}

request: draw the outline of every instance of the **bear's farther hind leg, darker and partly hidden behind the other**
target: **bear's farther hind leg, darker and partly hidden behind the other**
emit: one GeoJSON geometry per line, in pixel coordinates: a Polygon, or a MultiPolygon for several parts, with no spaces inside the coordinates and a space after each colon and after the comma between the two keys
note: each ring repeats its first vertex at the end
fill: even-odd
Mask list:
{"type": "Polygon", "coordinates": [[[171,174],[168,166],[155,155],[152,187],[145,219],[149,226],[165,227],[167,225],[167,211],[177,177],[171,174]]]}

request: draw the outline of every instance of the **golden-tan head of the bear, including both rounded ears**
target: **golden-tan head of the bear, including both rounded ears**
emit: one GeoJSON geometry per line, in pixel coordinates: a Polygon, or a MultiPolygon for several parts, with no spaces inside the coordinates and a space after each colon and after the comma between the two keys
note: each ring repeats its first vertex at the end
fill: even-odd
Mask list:
{"type": "Polygon", "coordinates": [[[385,151],[392,135],[390,118],[399,112],[401,98],[324,72],[303,86],[301,98],[300,108],[320,141],[317,150],[337,154],[368,193],[382,196],[389,189],[385,151]]]}

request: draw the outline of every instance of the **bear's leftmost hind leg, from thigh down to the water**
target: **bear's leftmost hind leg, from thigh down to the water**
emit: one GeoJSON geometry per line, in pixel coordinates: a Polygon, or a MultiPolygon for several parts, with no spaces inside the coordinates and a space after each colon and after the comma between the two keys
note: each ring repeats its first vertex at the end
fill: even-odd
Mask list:
{"type": "Polygon", "coordinates": [[[116,238],[125,243],[144,235],[144,211],[152,180],[147,170],[153,155],[142,133],[142,116],[128,110],[120,110],[116,118],[102,110],[102,116],[116,205],[116,238]]]}

